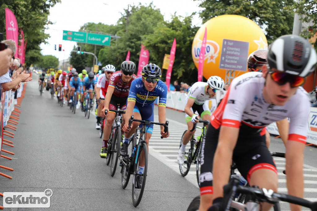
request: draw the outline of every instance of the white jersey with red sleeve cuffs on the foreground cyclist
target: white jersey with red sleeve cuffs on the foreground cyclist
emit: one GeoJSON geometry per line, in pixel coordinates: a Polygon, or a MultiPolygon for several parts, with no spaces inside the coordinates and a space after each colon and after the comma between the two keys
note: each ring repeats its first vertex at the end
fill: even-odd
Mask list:
{"type": "Polygon", "coordinates": [[[265,128],[272,122],[290,118],[288,140],[306,143],[307,117],[310,99],[307,92],[298,87],[296,93],[283,106],[265,101],[262,73],[249,72],[235,78],[218,108],[213,112],[210,123],[240,128],[239,133],[252,133],[265,128]]]}

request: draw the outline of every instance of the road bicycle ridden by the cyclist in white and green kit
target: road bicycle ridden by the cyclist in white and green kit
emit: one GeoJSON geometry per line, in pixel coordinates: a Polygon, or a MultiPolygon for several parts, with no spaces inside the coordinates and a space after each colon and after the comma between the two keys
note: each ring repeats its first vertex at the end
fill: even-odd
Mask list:
{"type": "MultiPolygon", "coordinates": [[[[197,138],[195,138],[195,134],[193,134],[193,136],[191,137],[191,140],[190,140],[190,148],[188,149],[188,151],[185,150],[184,164],[178,164],[178,165],[179,165],[180,174],[182,176],[186,176],[188,174],[189,169],[191,168],[191,163],[196,164],[197,183],[198,183],[198,186],[200,187],[199,177],[200,177],[201,143],[202,143],[203,137],[206,134],[206,126],[209,124],[209,120],[199,119],[199,123],[203,123],[204,126],[203,127],[197,126],[197,122],[195,122],[193,125],[193,128],[190,131],[192,132],[192,131],[196,130],[196,128],[199,128],[199,129],[201,129],[201,134],[200,134],[200,136],[197,136],[197,138]]],[[[182,138],[180,139],[179,147],[182,146],[183,137],[184,137],[186,132],[187,132],[187,130],[184,131],[182,138]]]]}

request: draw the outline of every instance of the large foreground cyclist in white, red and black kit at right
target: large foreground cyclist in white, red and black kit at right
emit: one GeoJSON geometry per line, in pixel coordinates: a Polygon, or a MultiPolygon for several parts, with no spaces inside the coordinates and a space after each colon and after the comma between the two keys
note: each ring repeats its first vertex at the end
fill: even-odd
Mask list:
{"type": "MultiPolygon", "coordinates": [[[[306,144],[310,99],[301,87],[314,72],[317,54],[297,35],[284,35],[269,46],[262,73],[235,78],[212,114],[201,156],[199,210],[221,208],[223,185],[232,160],[251,186],[277,192],[278,176],[265,142],[265,126],[290,118],[286,146],[288,194],[303,197],[303,152],[306,144]],[[212,173],[211,173],[212,169],[212,173]],[[213,195],[212,195],[213,194],[213,195]],[[212,202],[212,198],[214,201],[212,202]]],[[[262,210],[272,206],[262,203],[262,210]]],[[[292,211],[301,210],[290,204],[292,211]]]]}

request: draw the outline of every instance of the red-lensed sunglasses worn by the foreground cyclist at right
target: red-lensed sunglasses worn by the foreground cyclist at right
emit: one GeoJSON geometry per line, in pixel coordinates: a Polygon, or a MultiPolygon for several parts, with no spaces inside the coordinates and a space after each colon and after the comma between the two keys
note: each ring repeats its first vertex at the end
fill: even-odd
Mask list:
{"type": "Polygon", "coordinates": [[[305,78],[298,75],[292,75],[288,73],[275,72],[275,71],[270,71],[268,72],[268,74],[270,74],[271,79],[274,80],[277,84],[284,85],[287,82],[289,82],[292,88],[301,86],[305,82],[305,78]]]}

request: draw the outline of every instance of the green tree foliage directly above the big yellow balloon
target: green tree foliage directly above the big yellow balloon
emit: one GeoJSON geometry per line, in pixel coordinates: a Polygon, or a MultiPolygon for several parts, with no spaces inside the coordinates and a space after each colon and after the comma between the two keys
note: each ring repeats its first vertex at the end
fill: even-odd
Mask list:
{"type": "Polygon", "coordinates": [[[205,9],[199,16],[203,23],[221,15],[247,17],[266,32],[268,43],[271,43],[281,35],[292,34],[294,5],[294,0],[201,0],[199,7],[205,9]]]}

